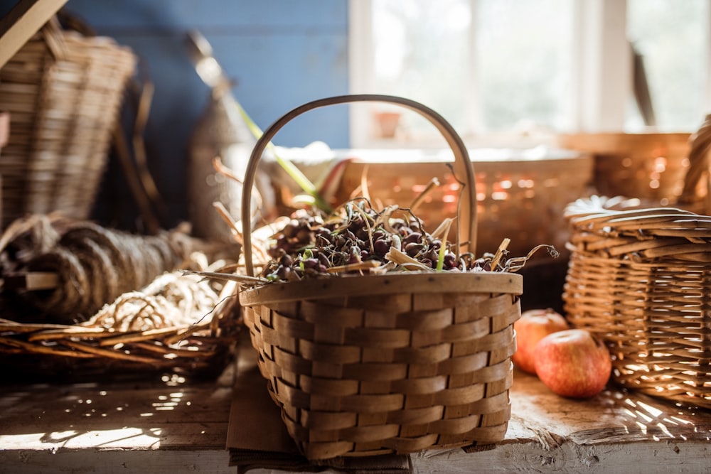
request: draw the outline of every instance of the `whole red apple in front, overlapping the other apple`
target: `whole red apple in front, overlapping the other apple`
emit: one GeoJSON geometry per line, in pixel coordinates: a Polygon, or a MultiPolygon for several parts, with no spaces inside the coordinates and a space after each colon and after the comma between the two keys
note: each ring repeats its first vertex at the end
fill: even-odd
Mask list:
{"type": "Polygon", "coordinates": [[[542,338],[533,353],[535,372],[556,394],[589,398],[604,389],[612,371],[610,352],[584,329],[568,329],[542,338]]]}

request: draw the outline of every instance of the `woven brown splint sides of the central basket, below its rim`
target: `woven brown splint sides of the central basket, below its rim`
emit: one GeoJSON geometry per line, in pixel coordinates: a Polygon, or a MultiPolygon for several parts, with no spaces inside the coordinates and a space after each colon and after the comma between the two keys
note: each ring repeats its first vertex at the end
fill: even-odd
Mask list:
{"type": "Polygon", "coordinates": [[[503,439],[518,301],[417,290],[245,308],[262,375],[307,456],[503,439]]]}

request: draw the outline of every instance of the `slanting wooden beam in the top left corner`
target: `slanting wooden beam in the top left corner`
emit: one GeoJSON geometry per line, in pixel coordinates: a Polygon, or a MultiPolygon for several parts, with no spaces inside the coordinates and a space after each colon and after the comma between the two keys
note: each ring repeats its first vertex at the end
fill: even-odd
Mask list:
{"type": "Polygon", "coordinates": [[[0,18],[0,68],[56,14],[67,0],[20,0],[0,18]]]}

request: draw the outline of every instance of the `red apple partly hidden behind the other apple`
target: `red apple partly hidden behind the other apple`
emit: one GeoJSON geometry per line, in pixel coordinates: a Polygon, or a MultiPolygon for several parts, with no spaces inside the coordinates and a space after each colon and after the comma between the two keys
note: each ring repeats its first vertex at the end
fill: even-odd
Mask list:
{"type": "Polygon", "coordinates": [[[538,341],[551,333],[569,329],[568,322],[551,308],[530,309],[513,323],[516,331],[516,352],[511,360],[520,370],[535,374],[533,350],[538,341]]]}

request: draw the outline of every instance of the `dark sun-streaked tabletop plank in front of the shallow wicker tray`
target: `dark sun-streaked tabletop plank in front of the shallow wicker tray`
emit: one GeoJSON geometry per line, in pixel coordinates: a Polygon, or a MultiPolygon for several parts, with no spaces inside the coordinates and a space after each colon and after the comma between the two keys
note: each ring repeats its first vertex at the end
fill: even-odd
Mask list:
{"type": "Polygon", "coordinates": [[[168,382],[5,387],[0,449],[224,451],[231,367],[217,381],[168,382]]]}

